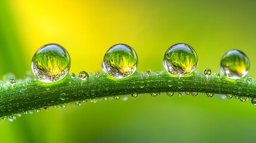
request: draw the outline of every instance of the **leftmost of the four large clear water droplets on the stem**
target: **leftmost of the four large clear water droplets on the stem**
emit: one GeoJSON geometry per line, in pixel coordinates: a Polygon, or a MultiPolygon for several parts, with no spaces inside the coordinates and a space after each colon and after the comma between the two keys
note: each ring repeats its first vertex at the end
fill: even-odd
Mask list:
{"type": "Polygon", "coordinates": [[[63,46],[50,43],[36,51],[31,67],[41,82],[57,82],[69,72],[70,57],[63,46]]]}

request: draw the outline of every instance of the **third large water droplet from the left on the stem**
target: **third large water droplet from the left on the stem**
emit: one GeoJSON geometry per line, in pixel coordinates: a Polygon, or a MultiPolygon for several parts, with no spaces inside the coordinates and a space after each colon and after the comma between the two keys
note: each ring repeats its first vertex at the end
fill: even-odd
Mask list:
{"type": "Polygon", "coordinates": [[[174,75],[192,73],[198,64],[198,55],[195,50],[186,43],[172,45],[164,55],[165,69],[174,75]]]}

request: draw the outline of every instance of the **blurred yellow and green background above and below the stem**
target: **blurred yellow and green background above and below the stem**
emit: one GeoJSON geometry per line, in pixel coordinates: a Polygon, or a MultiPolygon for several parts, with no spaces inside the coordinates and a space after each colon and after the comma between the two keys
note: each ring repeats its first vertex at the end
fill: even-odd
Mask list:
{"type": "MultiPolygon", "coordinates": [[[[219,72],[221,57],[235,48],[248,55],[255,78],[255,15],[255,1],[0,1],[0,76],[24,78],[47,43],[69,51],[70,73],[101,71],[104,52],[116,43],[135,49],[137,71],[161,71],[166,49],[184,42],[198,54],[197,71],[219,72]]],[[[0,141],[249,142],[255,111],[250,101],[219,95],[128,96],[1,121],[0,141]]]]}

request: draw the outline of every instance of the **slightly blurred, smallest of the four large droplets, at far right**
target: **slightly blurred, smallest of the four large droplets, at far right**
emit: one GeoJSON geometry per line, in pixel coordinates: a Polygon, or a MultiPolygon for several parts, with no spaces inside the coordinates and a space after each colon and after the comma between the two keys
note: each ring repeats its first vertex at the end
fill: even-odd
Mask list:
{"type": "Polygon", "coordinates": [[[249,71],[250,61],[247,55],[238,50],[228,51],[220,61],[221,71],[230,79],[245,77],[249,71]]]}

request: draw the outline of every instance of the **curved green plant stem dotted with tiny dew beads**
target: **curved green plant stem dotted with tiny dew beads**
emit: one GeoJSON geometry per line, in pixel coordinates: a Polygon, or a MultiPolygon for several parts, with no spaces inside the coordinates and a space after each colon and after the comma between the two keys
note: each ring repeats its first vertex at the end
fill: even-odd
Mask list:
{"type": "Polygon", "coordinates": [[[99,77],[90,74],[87,80],[66,76],[55,83],[41,83],[35,79],[17,80],[13,87],[9,82],[1,83],[0,117],[73,101],[131,93],[203,92],[256,98],[255,83],[254,80],[251,83],[246,79],[235,81],[226,76],[218,77],[217,74],[206,78],[205,74],[195,72],[190,76],[171,76],[164,71],[152,72],[149,76],[135,73],[125,79],[113,79],[104,73],[99,77]]]}

